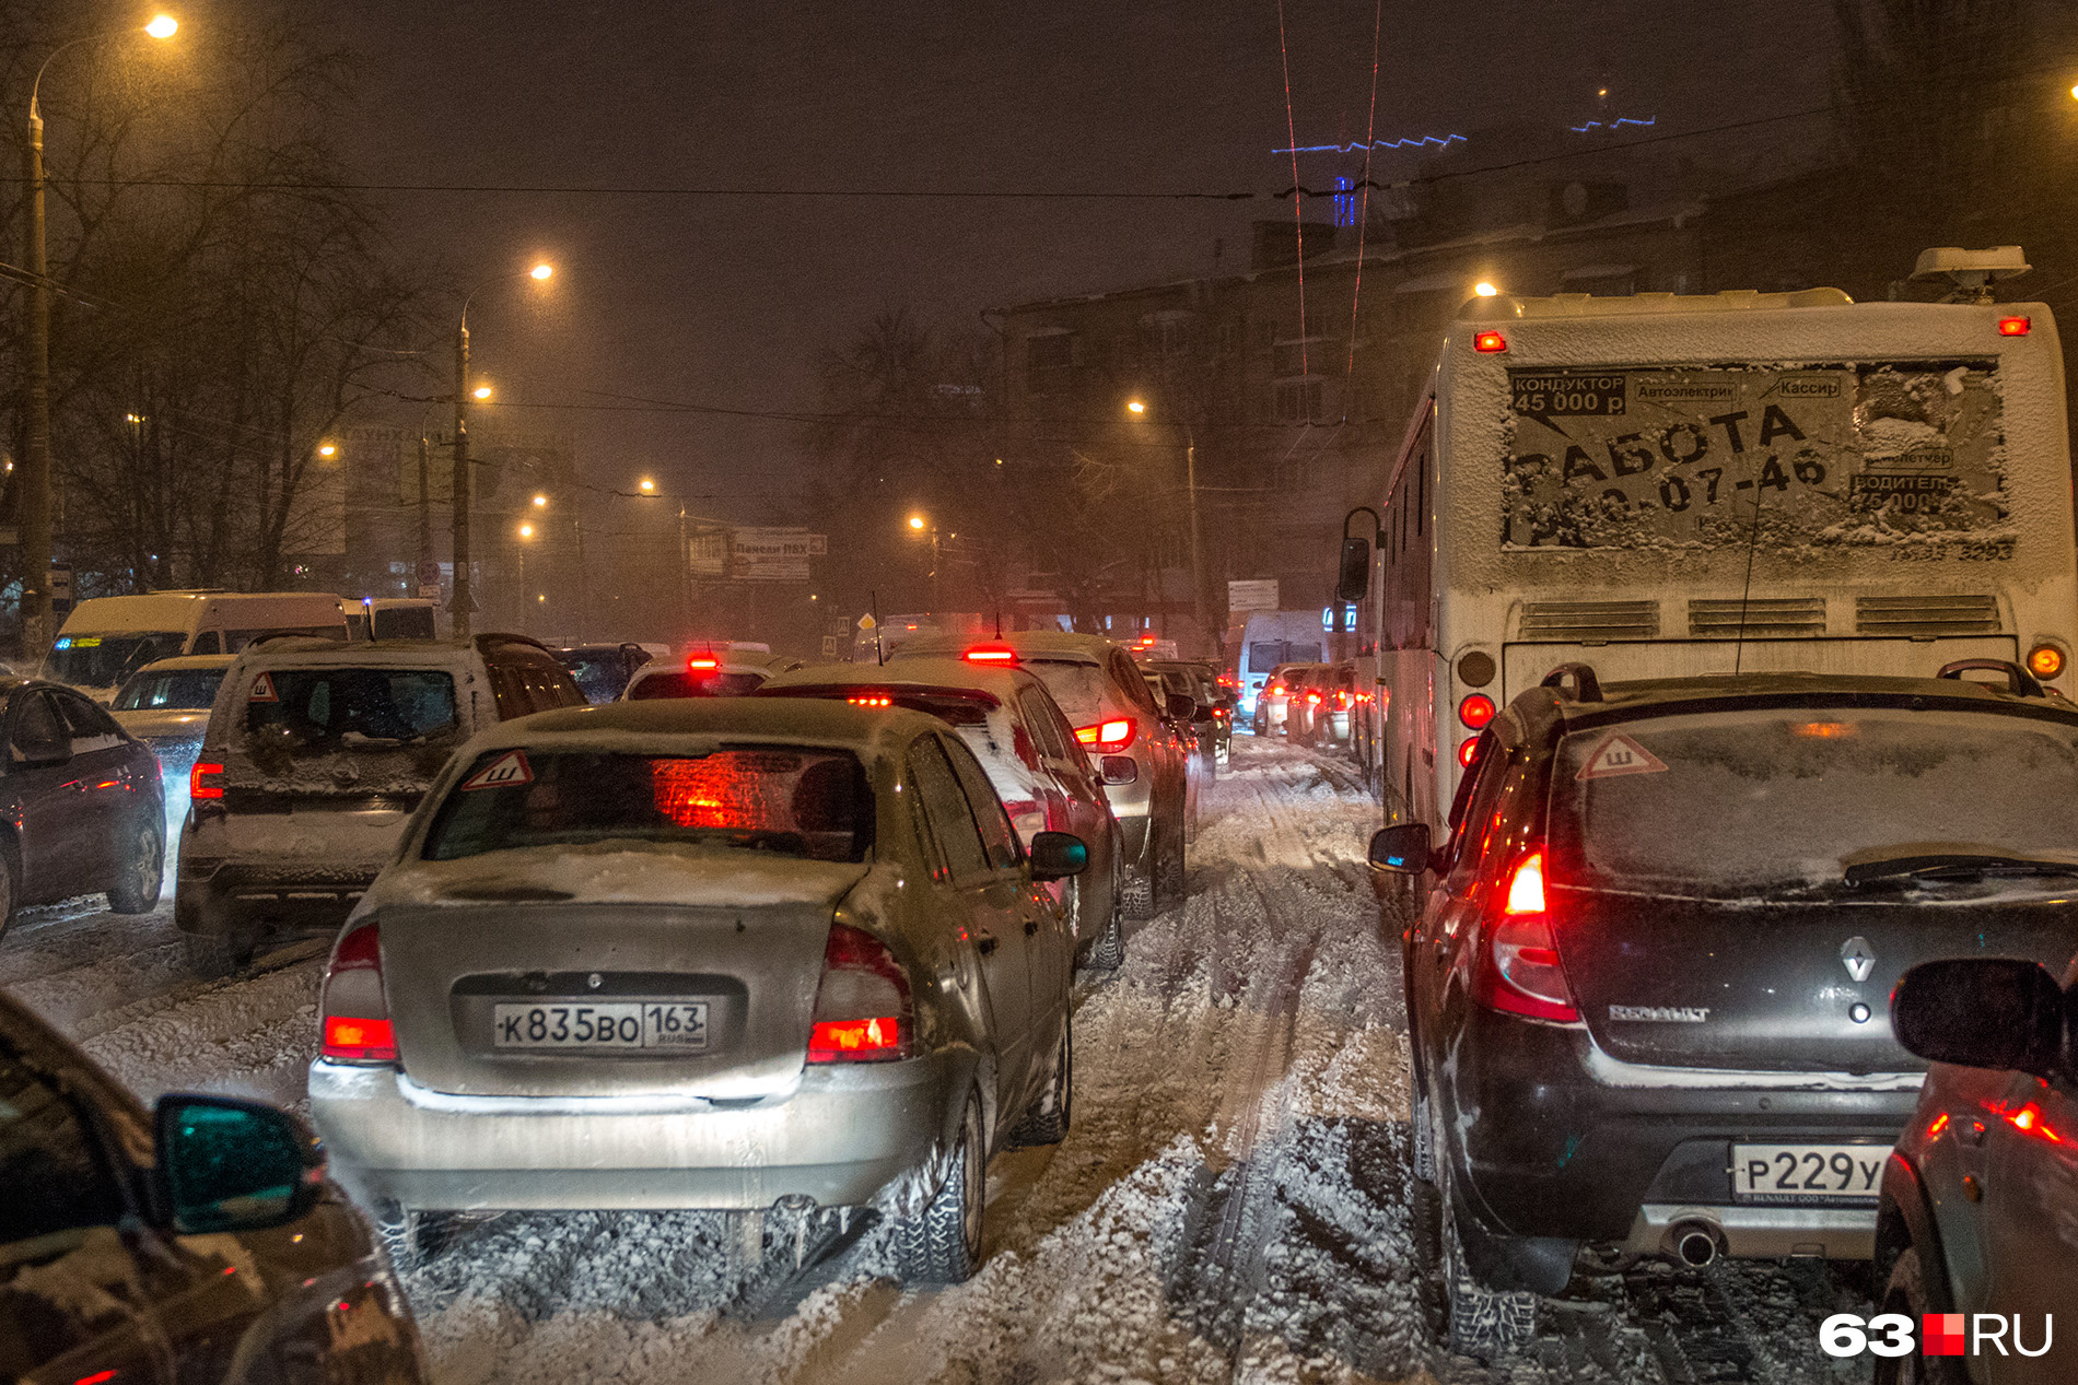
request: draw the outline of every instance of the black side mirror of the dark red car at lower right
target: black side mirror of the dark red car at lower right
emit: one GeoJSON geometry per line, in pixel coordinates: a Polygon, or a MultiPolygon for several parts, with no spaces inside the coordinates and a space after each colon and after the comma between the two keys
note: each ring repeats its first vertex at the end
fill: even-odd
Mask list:
{"type": "Polygon", "coordinates": [[[1922,961],[1891,990],[1891,1032],[1930,1063],[2047,1078],[2063,1061],[2063,988],[2032,961],[1922,961]]]}

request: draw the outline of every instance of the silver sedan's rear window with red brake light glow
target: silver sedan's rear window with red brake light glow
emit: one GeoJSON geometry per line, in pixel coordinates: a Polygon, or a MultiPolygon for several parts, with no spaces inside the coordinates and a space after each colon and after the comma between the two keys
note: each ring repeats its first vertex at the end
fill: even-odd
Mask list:
{"type": "Polygon", "coordinates": [[[596,841],[864,860],[873,791],[844,750],[707,756],[490,750],[441,804],[426,860],[596,841]]]}

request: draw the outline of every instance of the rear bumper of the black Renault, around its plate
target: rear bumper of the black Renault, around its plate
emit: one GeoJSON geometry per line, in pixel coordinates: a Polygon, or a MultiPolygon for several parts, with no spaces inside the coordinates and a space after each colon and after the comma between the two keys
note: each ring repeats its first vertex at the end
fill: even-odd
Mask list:
{"type": "Polygon", "coordinates": [[[1669,1225],[1700,1217],[1735,1256],[1868,1256],[1874,1198],[1737,1202],[1731,1146],[1887,1150],[1920,1080],[1642,1067],[1600,1053],[1583,1028],[1490,1011],[1463,1030],[1448,1067],[1461,1188],[1492,1229],[1646,1254],[1664,1250],[1669,1225]]]}

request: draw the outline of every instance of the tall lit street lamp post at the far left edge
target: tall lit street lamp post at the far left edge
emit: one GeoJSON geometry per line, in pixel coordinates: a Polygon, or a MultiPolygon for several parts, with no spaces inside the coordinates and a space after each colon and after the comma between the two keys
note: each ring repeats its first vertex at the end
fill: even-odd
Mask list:
{"type": "MultiPolygon", "coordinates": [[[[181,29],[170,15],[158,15],[143,27],[156,39],[170,39],[181,29]]],[[[27,426],[21,449],[21,648],[29,658],[42,658],[50,646],[50,247],[44,237],[44,112],[37,98],[44,73],[60,52],[85,44],[123,37],[131,29],[89,33],[58,44],[35,69],[29,83],[29,145],[25,154],[29,185],[29,320],[23,355],[27,380],[23,395],[27,426]]]]}

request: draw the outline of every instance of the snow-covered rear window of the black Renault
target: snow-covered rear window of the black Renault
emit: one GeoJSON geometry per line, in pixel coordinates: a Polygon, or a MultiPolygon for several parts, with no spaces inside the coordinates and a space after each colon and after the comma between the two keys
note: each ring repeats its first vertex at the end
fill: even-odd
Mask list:
{"type": "Polygon", "coordinates": [[[1556,876],[1733,895],[1935,853],[2078,862],[2078,729],[1947,710],[1702,712],[1577,731],[1552,766],[1556,876]]]}

